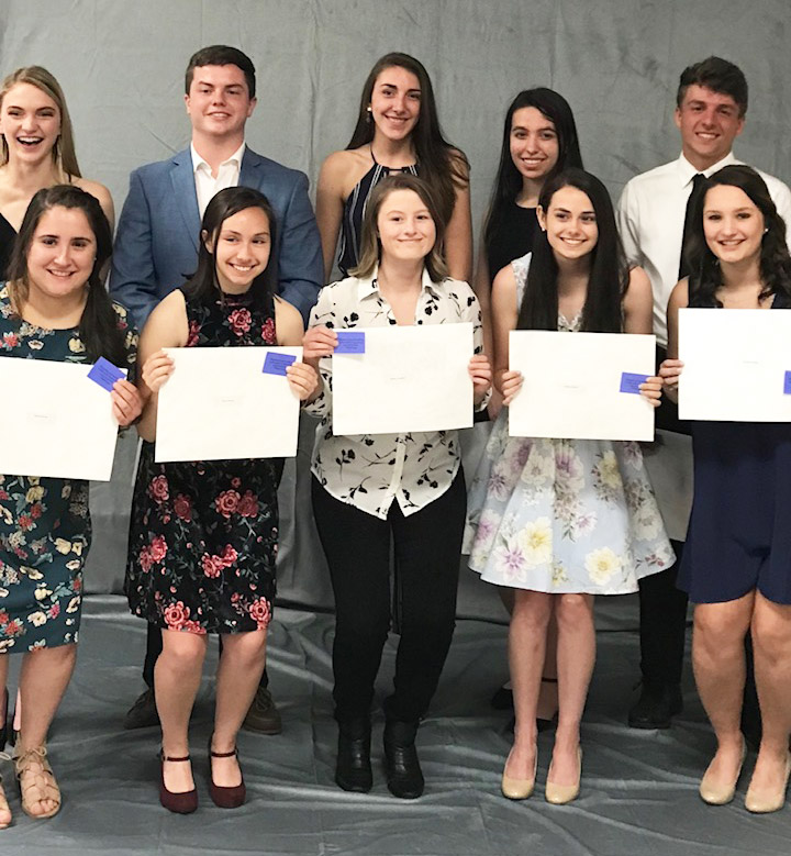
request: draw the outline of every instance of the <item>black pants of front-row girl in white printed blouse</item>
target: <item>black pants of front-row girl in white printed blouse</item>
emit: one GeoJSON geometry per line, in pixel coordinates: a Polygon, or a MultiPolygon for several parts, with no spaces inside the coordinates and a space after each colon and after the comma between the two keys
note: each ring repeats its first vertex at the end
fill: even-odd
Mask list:
{"type": "Polygon", "coordinates": [[[327,493],[314,478],[313,513],[335,594],[335,718],[370,713],[374,682],[390,630],[390,540],[401,638],[390,720],[416,722],[434,696],[456,622],[467,492],[459,469],[450,488],[404,516],[394,500],[387,520],[327,493]]]}

